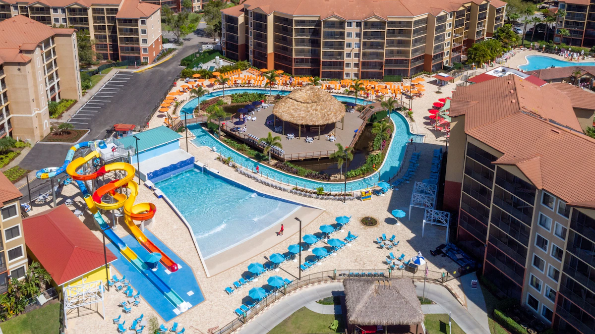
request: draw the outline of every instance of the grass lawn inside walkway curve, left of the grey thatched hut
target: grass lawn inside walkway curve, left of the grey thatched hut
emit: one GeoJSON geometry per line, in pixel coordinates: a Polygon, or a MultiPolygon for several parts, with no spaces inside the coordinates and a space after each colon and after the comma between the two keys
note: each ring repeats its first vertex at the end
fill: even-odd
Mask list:
{"type": "MultiPolygon", "coordinates": [[[[448,317],[448,316],[447,316],[448,317]]],[[[275,326],[269,334],[295,334],[295,333],[340,333],[344,331],[341,315],[320,314],[302,307],[295,311],[287,319],[275,326]],[[337,332],[333,332],[328,327],[333,321],[339,320],[337,332]]],[[[462,333],[462,332],[461,332],[462,333]]]]}

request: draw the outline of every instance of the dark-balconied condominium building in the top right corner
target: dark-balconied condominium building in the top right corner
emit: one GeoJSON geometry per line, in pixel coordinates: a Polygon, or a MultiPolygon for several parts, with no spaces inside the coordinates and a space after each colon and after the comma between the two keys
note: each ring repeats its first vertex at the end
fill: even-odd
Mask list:
{"type": "Polygon", "coordinates": [[[566,11],[556,22],[554,43],[591,48],[595,45],[595,2],[589,0],[560,1],[558,10],[566,11]],[[560,29],[567,29],[568,36],[562,36],[560,29]]]}

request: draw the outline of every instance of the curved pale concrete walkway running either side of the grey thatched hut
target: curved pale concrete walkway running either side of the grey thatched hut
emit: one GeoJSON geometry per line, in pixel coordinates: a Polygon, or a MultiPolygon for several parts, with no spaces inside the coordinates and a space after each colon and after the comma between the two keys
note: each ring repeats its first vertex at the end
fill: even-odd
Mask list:
{"type": "MultiPolygon", "coordinates": [[[[462,282],[469,281],[471,279],[477,279],[475,274],[466,275],[462,279],[462,282]]],[[[424,288],[423,282],[417,282],[415,284],[415,291],[418,295],[422,295],[424,288]]],[[[465,292],[466,289],[464,288],[465,292]]],[[[333,291],[343,291],[343,283],[333,282],[322,285],[315,285],[309,288],[305,288],[296,294],[289,295],[287,298],[283,298],[278,304],[274,305],[264,313],[255,317],[248,324],[240,329],[242,334],[261,334],[267,333],[272,330],[277,324],[281,323],[284,319],[292,315],[295,311],[302,307],[308,307],[312,310],[313,304],[317,300],[322,298],[331,297],[333,291]]],[[[477,289],[481,295],[481,290],[477,289]]],[[[475,292],[475,290],[474,290],[475,292]]],[[[472,293],[468,295],[467,304],[474,305],[470,307],[471,310],[467,310],[461,303],[459,303],[450,292],[444,288],[444,286],[427,283],[425,285],[425,297],[434,301],[434,305],[421,305],[422,310],[425,314],[430,313],[445,313],[449,312],[452,315],[452,319],[461,327],[465,333],[468,334],[489,334],[489,327],[487,325],[487,314],[486,305],[483,301],[483,295],[480,296],[472,293]],[[480,300],[481,299],[481,300],[480,300]],[[470,300],[472,303],[470,303],[470,300]],[[481,311],[481,304],[483,303],[483,312],[481,311]],[[475,306],[477,305],[477,307],[475,306]]],[[[320,305],[320,304],[318,304],[320,305]]],[[[323,305],[320,305],[323,306],[323,305]]],[[[322,310],[322,308],[321,308],[322,310]]],[[[317,311],[317,310],[312,310],[317,311]]],[[[326,311],[326,310],[325,310],[326,311]]],[[[322,313],[322,312],[319,312],[322,313]]],[[[324,313],[328,314],[328,313],[324,313]]]]}

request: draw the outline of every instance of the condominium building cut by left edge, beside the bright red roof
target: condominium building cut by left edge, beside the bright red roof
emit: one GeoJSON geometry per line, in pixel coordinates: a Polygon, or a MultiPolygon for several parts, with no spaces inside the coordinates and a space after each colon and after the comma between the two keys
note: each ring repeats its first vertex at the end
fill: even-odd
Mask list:
{"type": "Polygon", "coordinates": [[[21,206],[23,194],[0,173],[0,294],[7,291],[8,280],[20,279],[27,271],[27,250],[23,234],[21,206]]]}

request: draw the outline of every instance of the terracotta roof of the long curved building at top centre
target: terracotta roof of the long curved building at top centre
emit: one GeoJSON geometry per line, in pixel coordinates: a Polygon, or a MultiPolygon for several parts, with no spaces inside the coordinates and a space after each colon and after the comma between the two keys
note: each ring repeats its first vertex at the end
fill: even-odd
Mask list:
{"type": "MultiPolygon", "coordinates": [[[[289,15],[317,15],[324,20],[333,16],[345,20],[365,20],[371,17],[387,19],[388,17],[417,16],[422,14],[439,14],[441,11],[453,12],[462,4],[482,0],[246,0],[240,6],[250,10],[260,8],[267,14],[282,12],[289,15]]],[[[230,10],[239,15],[239,8],[230,10]]],[[[226,12],[227,14],[227,12],[226,12]]],[[[231,14],[230,14],[231,15],[231,14]]]]}

